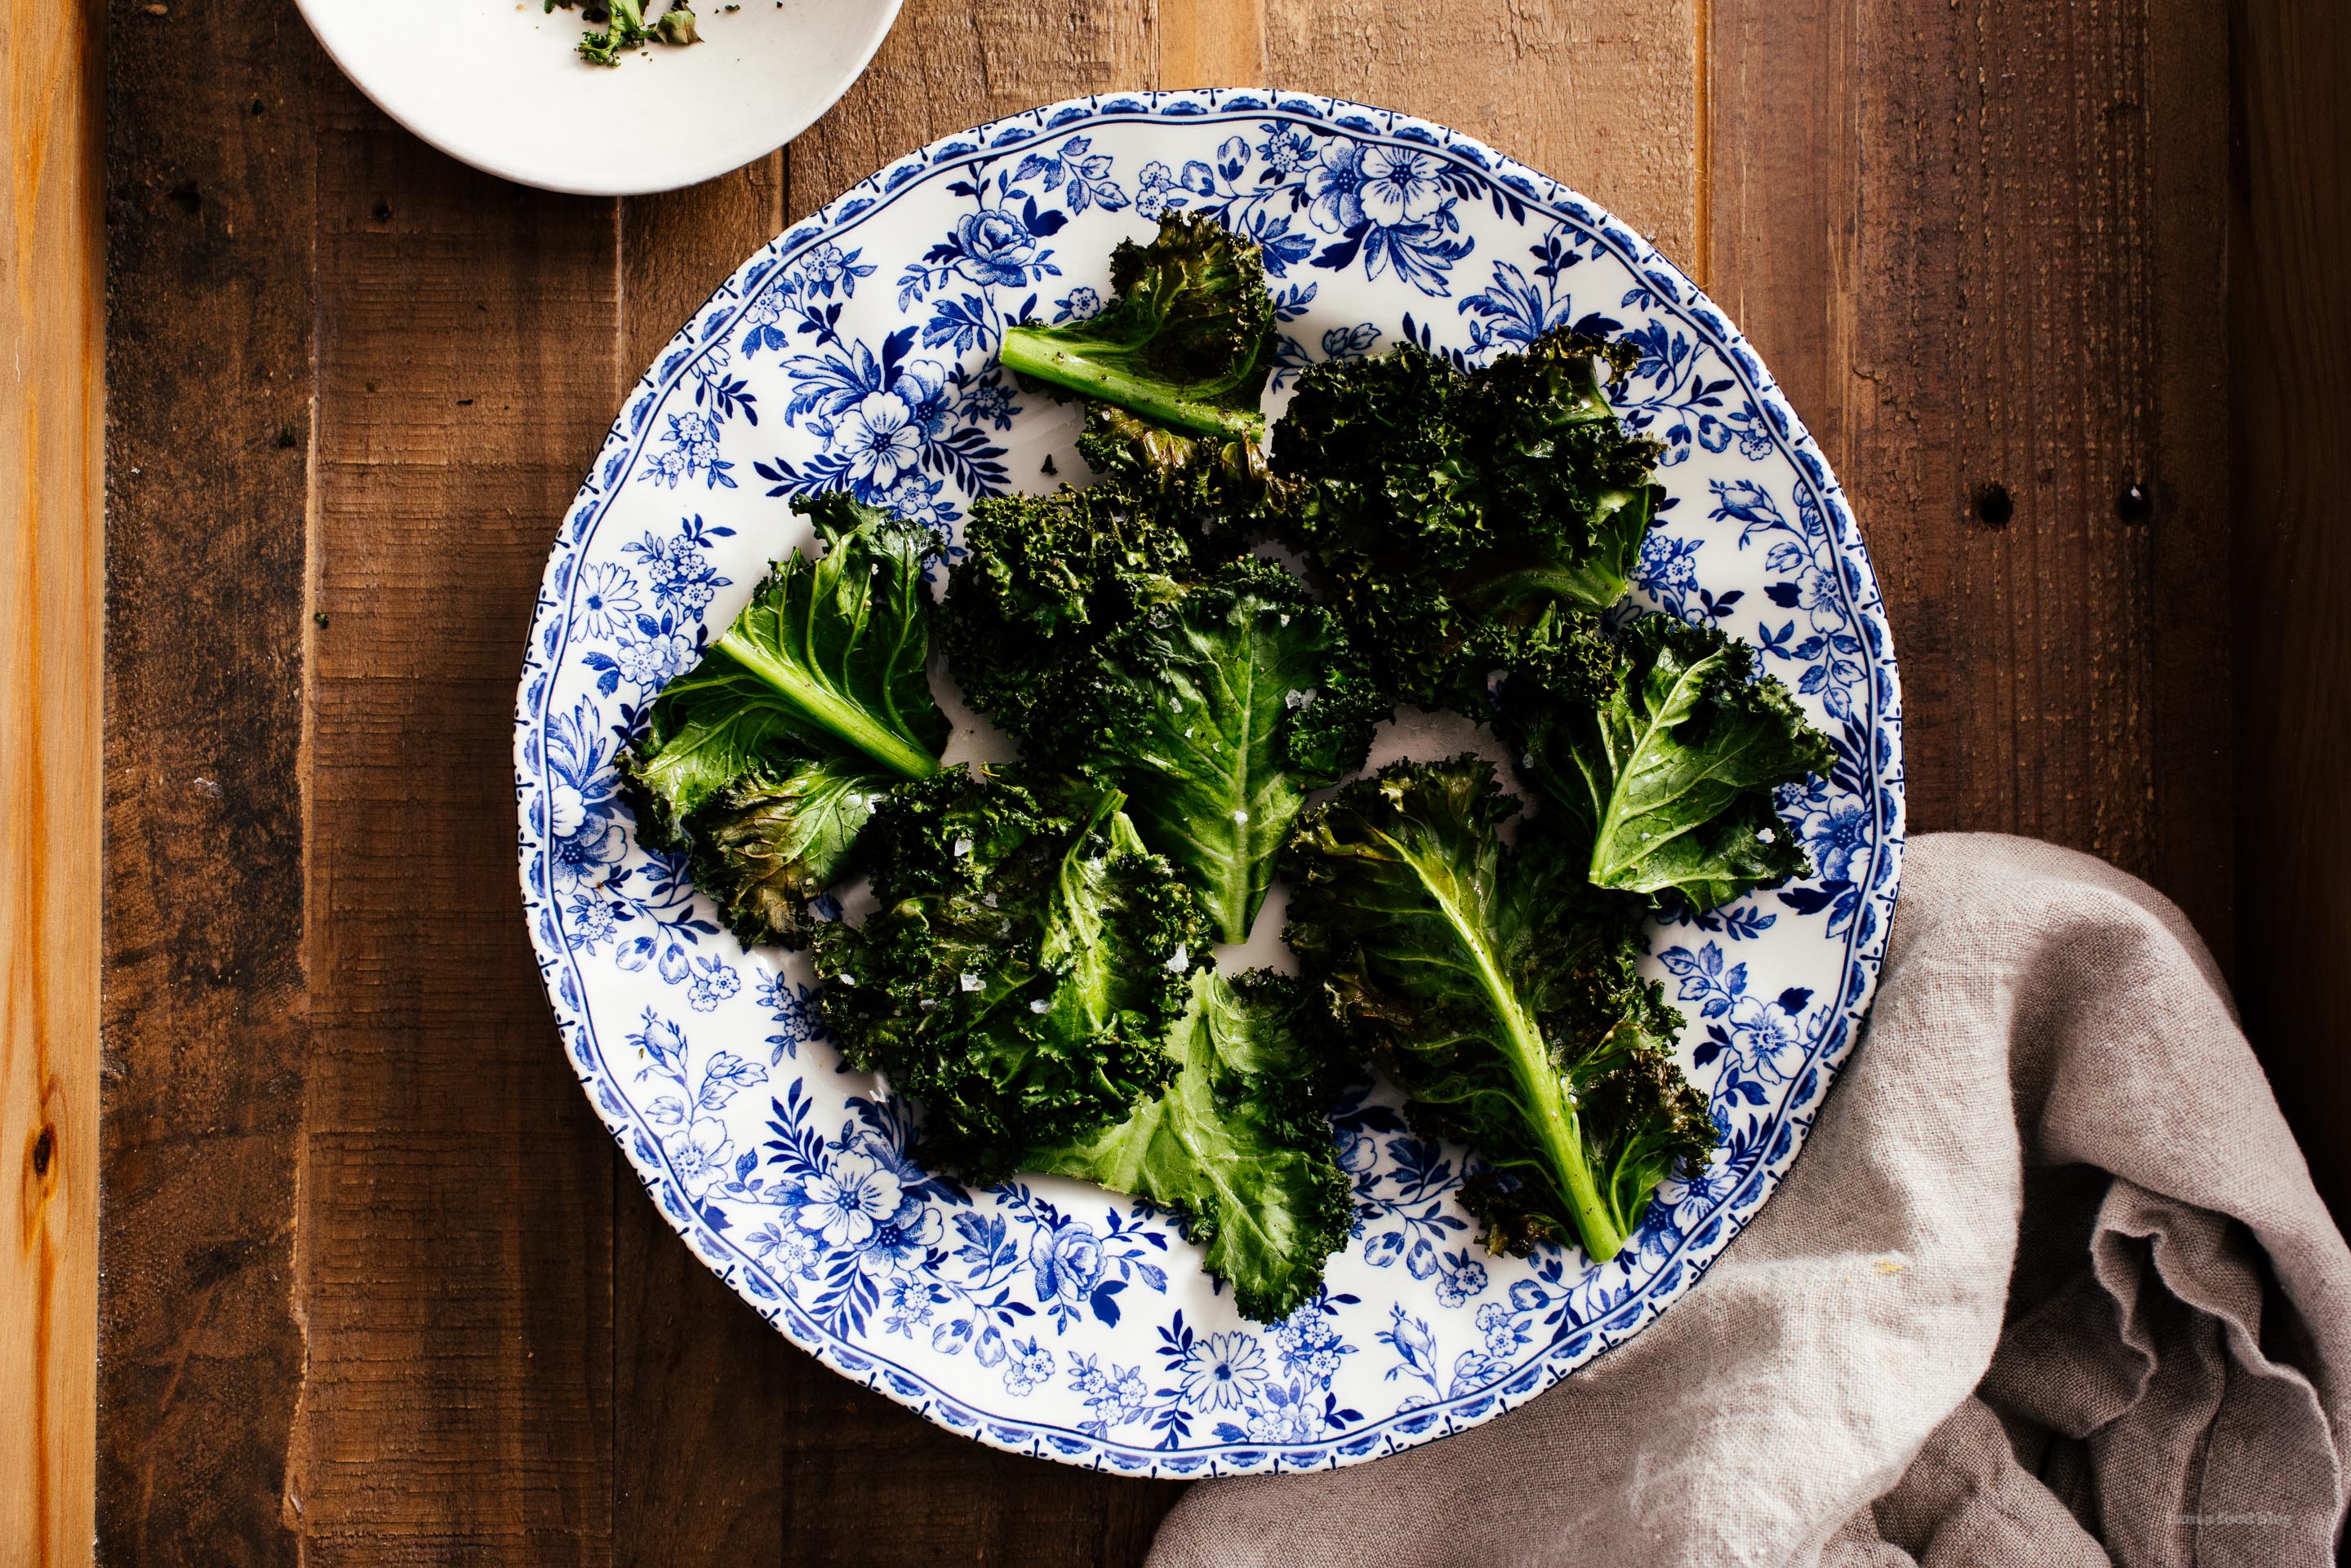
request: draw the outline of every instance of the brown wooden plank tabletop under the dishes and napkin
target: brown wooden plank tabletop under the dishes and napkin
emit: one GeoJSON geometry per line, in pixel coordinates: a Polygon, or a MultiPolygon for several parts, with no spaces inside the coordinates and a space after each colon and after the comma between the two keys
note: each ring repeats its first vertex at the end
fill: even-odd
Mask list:
{"type": "Polygon", "coordinates": [[[952,1439],[689,1258],[557,1048],[508,778],[545,548],[656,346],[870,169],[1070,94],[1392,103],[1650,233],[1853,496],[1914,830],[2154,879],[2290,1110],[2351,1110],[2339,7],[910,0],[797,143],[625,202],[423,148],[284,0],[115,0],[99,167],[94,12],[7,16],[5,1563],[85,1561],[92,1507],[113,1563],[1140,1561],[1178,1486],[952,1439]]]}

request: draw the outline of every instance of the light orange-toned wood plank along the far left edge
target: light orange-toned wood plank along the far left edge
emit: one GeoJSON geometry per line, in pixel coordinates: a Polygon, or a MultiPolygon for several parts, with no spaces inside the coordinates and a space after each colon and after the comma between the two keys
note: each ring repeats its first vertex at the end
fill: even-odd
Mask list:
{"type": "Polygon", "coordinates": [[[0,1552],[87,1563],[99,1349],[99,7],[0,7],[0,1552]]]}

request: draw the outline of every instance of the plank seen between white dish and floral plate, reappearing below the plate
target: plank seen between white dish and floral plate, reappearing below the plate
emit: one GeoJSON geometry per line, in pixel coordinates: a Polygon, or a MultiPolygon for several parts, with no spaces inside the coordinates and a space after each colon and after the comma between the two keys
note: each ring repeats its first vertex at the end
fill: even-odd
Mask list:
{"type": "MultiPolygon", "coordinates": [[[[651,364],[710,289],[783,230],[783,188],[776,153],[621,205],[623,374],[651,364]]],[[[647,1568],[797,1561],[783,1533],[785,1450],[766,1434],[792,1361],[806,1356],[686,1251],[618,1152],[611,1171],[611,1556],[647,1568]]]]}

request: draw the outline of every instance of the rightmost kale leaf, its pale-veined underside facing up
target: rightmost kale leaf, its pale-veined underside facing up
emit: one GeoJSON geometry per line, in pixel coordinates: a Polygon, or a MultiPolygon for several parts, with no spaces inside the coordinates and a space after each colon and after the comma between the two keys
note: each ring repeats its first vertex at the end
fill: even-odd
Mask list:
{"type": "Polygon", "coordinates": [[[1829,738],[1787,686],[1754,679],[1754,649],[1728,632],[1643,616],[1596,698],[1587,670],[1535,665],[1502,682],[1500,708],[1519,771],[1573,823],[1594,886],[1712,910],[1810,875],[1773,790],[1827,773],[1829,738]]]}

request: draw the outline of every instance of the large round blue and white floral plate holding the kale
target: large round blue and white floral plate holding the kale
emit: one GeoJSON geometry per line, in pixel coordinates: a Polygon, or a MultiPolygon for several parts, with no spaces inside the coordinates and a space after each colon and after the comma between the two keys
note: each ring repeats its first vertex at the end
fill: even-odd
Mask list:
{"type": "MultiPolygon", "coordinates": [[[[1869,1004],[1902,856],[1893,646],[1836,480],[1737,329],[1629,228],[1476,141],[1267,92],[1079,99],[950,136],[762,249],[628,400],[555,541],[517,703],[531,940],[597,1114],[686,1244],[839,1373],[983,1443],[1124,1474],[1371,1460],[1488,1420],[1697,1284],[1796,1159],[1869,1004]],[[1481,362],[1559,322],[1632,334],[1625,418],[1667,442],[1639,595],[1763,651],[1836,741],[1782,795],[1817,865],[1655,929],[1723,1154],[1606,1267],[1488,1258],[1462,1150],[1385,1086],[1338,1112],[1357,1232],[1328,1291],[1244,1321],[1166,1215],[1065,1180],[964,1192],[842,1070],[806,966],[745,952],[614,799],[642,708],[762,567],[785,498],[959,529],[1084,473],[1077,416],[994,364],[1006,322],[1093,310],[1114,240],[1176,207],[1265,244],[1279,383],[1399,339],[1481,362]]],[[[985,736],[959,733],[978,755],[985,736]]],[[[1267,912],[1272,919],[1272,912],[1267,912]]],[[[1265,922],[1260,922],[1265,924],[1265,922]]]]}

